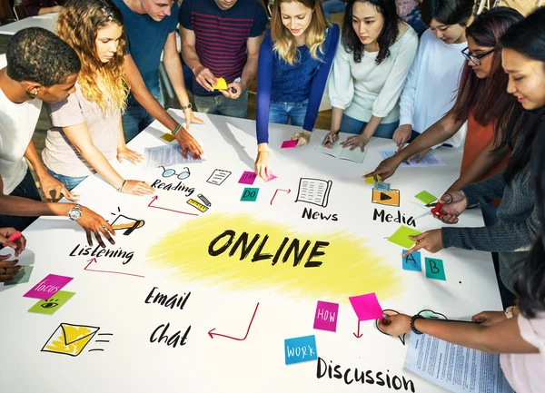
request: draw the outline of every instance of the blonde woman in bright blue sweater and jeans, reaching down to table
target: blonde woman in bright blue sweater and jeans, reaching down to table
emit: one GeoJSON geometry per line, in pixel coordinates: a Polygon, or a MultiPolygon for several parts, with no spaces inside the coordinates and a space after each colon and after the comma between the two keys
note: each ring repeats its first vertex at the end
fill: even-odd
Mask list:
{"type": "Polygon", "coordinates": [[[311,139],[323,89],[339,41],[339,26],[323,16],[320,0],[280,0],[259,52],[255,173],[269,171],[269,123],[302,127],[297,147],[311,139]]]}

